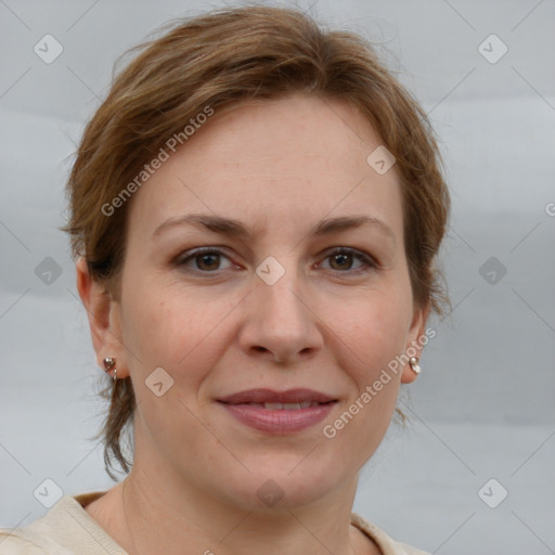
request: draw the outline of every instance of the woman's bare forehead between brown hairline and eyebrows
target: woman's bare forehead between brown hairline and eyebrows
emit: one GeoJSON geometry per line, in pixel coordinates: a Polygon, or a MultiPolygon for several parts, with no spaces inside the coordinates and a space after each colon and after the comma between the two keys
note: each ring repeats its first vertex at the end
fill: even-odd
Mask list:
{"type": "Polygon", "coordinates": [[[284,232],[367,212],[402,235],[395,167],[378,175],[366,162],[379,145],[344,101],[297,93],[216,111],[142,185],[130,224],[152,233],[167,218],[202,211],[284,232]]]}

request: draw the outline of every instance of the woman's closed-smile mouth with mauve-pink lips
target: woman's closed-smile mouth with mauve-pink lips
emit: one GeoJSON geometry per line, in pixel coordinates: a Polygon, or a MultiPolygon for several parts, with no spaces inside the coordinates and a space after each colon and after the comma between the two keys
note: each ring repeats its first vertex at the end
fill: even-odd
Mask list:
{"type": "Polygon", "coordinates": [[[249,389],[218,399],[240,423],[279,435],[298,433],[318,424],[337,401],[312,389],[249,389]]]}

